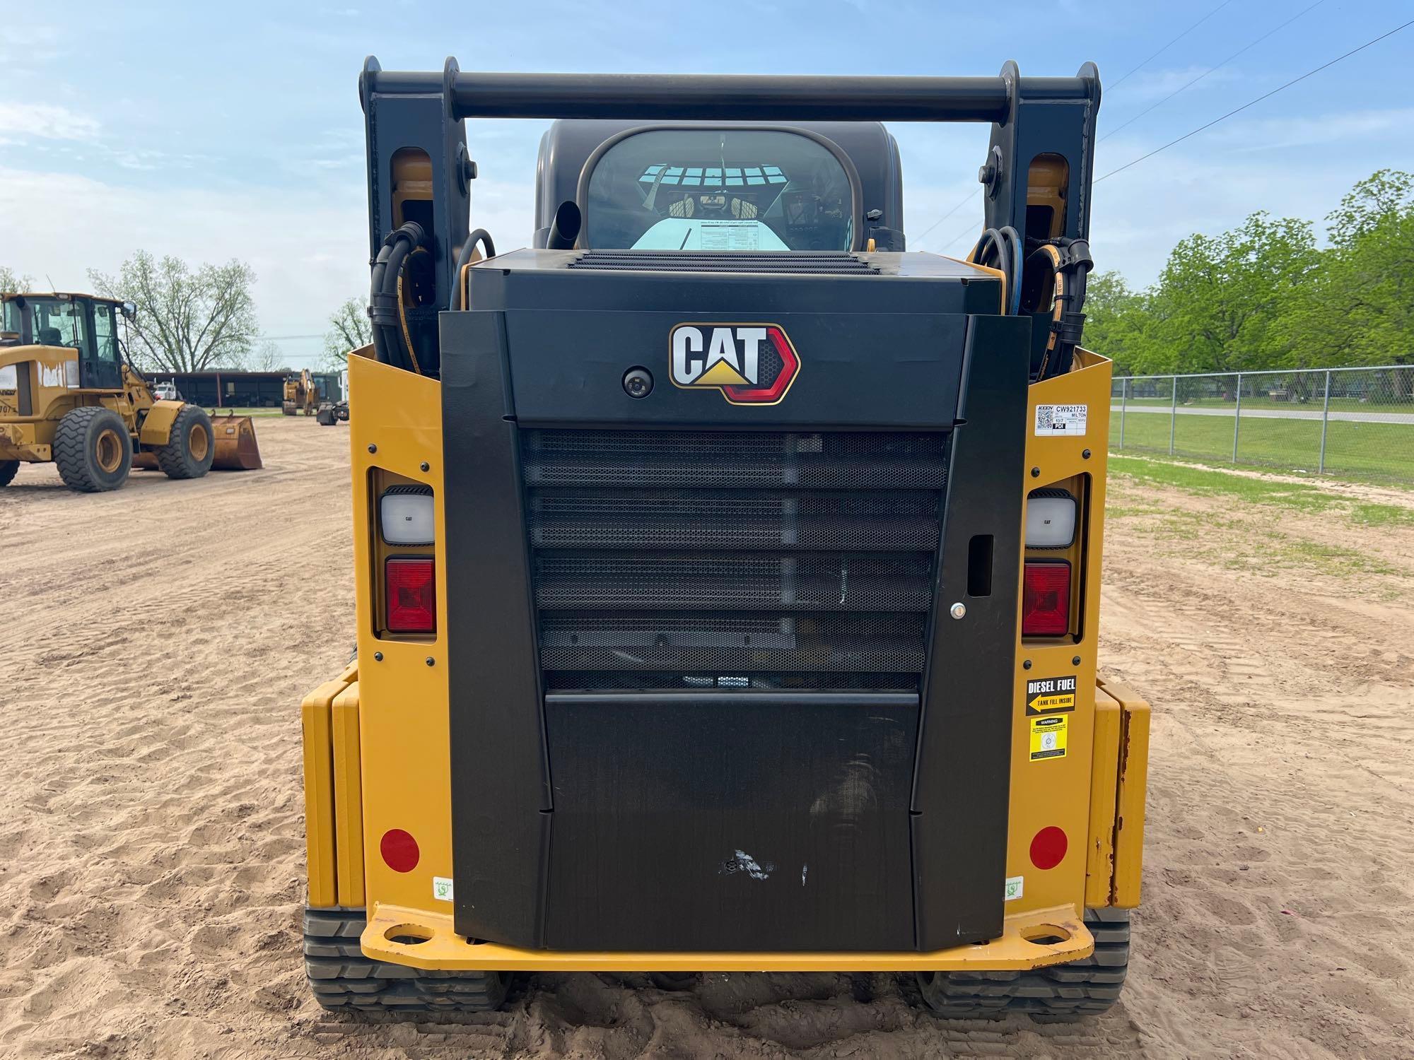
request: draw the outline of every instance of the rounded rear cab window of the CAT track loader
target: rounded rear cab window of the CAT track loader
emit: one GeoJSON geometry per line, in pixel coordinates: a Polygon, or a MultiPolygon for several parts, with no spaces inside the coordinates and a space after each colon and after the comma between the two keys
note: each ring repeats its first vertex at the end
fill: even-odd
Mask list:
{"type": "Polygon", "coordinates": [[[854,194],[840,160],[797,133],[655,129],[590,174],[585,243],[608,250],[850,250],[854,194]]]}

